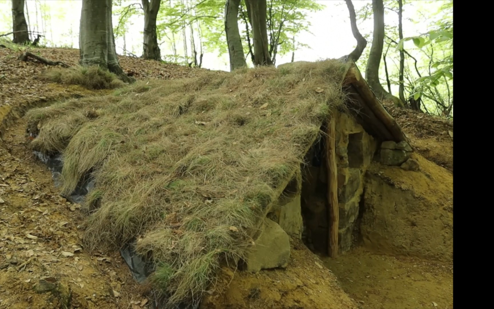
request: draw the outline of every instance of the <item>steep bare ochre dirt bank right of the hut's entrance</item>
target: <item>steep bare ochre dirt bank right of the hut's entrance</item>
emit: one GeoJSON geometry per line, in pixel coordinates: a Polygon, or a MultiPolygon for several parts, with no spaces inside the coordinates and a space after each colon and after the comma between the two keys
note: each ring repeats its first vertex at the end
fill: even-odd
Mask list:
{"type": "Polygon", "coordinates": [[[453,261],[453,175],[419,154],[420,171],[372,163],[360,225],[364,245],[383,253],[453,261]]]}

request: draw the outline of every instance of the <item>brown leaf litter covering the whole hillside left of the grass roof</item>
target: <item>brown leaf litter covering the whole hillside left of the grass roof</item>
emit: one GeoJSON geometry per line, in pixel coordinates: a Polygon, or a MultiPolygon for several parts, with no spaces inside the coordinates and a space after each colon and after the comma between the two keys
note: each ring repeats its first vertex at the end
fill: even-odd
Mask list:
{"type": "MultiPolygon", "coordinates": [[[[77,49],[31,50],[70,65],[79,58],[77,49]]],[[[0,48],[0,120],[15,108],[23,111],[25,106],[60,96],[90,93],[80,87],[41,83],[37,75],[51,68],[22,62],[19,53],[0,48]]],[[[122,62],[136,70],[135,63],[142,60],[122,62]]],[[[151,65],[153,74],[172,78],[167,69],[151,70],[151,65]]],[[[107,253],[97,261],[79,245],[83,231],[71,222],[82,221],[80,205],[59,195],[51,173],[28,151],[24,128],[22,121],[0,121],[0,309],[61,307],[62,298],[33,290],[44,277],[70,289],[73,308],[129,308],[133,301],[142,302],[138,283],[118,254],[107,253]],[[109,283],[114,283],[114,296],[108,292],[109,283]]]]}

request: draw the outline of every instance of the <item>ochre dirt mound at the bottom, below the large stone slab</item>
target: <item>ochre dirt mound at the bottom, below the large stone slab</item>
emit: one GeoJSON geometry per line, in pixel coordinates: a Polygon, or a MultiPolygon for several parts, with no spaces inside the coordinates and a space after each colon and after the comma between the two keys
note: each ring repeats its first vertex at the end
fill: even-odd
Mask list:
{"type": "Polygon", "coordinates": [[[291,243],[291,261],[286,269],[251,274],[222,268],[201,308],[358,308],[316,255],[298,239],[291,243]]]}

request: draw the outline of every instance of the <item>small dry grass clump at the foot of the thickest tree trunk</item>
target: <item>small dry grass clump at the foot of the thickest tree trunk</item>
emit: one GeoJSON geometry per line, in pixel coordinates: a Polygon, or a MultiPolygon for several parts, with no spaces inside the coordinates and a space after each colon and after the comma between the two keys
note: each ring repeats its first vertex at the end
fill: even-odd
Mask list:
{"type": "Polygon", "coordinates": [[[81,85],[88,89],[114,89],[125,85],[117,75],[98,66],[78,66],[68,69],[48,70],[43,78],[54,83],[81,85]]]}

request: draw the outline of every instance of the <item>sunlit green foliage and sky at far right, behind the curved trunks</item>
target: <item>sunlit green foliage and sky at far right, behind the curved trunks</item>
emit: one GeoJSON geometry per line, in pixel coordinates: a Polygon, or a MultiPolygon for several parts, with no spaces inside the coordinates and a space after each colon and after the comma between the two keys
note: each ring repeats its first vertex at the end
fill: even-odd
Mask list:
{"type": "MultiPolygon", "coordinates": [[[[404,33],[399,40],[398,2],[384,0],[385,39],[384,61],[379,69],[382,84],[389,83],[391,90],[398,91],[400,51],[405,52],[405,97],[421,100],[423,111],[431,114],[452,115],[453,108],[453,1],[422,0],[403,1],[404,33]],[[414,11],[414,12],[413,12],[414,11]],[[413,12],[412,14],[410,12],[413,12]],[[427,32],[410,33],[410,22],[427,25],[427,32]],[[413,34],[413,35],[411,35],[413,34]],[[384,70],[386,62],[387,73],[384,70]]],[[[372,20],[369,1],[356,10],[358,22],[372,20]]],[[[362,35],[371,43],[372,32],[362,35]]],[[[367,65],[369,46],[357,62],[367,65]]],[[[386,87],[385,87],[386,88],[386,87]]],[[[396,94],[396,93],[393,93],[396,94]]]]}

